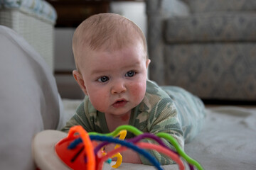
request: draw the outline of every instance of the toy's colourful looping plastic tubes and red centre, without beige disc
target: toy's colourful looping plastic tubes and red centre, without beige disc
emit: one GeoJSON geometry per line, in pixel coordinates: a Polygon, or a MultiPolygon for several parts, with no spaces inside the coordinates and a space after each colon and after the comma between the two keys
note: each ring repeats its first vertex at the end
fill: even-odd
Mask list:
{"type": "Polygon", "coordinates": [[[87,133],[81,126],[74,126],[70,128],[68,136],[60,140],[55,145],[55,153],[70,169],[87,169],[87,170],[101,170],[104,162],[110,162],[112,157],[117,157],[117,162],[112,167],[117,168],[122,164],[122,155],[119,152],[125,149],[133,149],[134,151],[142,154],[146,159],[151,162],[156,169],[162,170],[161,165],[146,149],[155,149],[157,152],[165,154],[173,159],[178,164],[179,169],[185,169],[183,162],[188,163],[189,169],[193,170],[194,167],[202,170],[201,164],[196,160],[191,159],[179,147],[176,140],[171,135],[159,132],[156,135],[150,133],[143,133],[131,125],[119,126],[116,130],[107,134],[100,134],[97,132],[87,133]],[[127,131],[134,133],[136,137],[125,140],[127,131]],[[119,139],[117,138],[119,136],[119,139]],[[155,140],[158,145],[140,142],[144,138],[155,140]],[[166,147],[161,138],[168,140],[171,145],[176,148],[176,151],[166,147]],[[100,141],[97,144],[96,141],[100,141]],[[117,144],[114,149],[105,153],[102,148],[109,143],[117,144]],[[181,159],[183,158],[183,161],[181,159]]]}

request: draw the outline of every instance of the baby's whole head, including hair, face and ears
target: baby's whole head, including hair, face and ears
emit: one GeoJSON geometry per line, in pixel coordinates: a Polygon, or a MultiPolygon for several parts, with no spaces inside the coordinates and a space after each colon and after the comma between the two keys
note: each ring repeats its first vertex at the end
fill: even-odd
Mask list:
{"type": "Polygon", "coordinates": [[[123,115],[144,98],[150,60],[142,30],[129,19],[114,13],[87,18],[75,30],[73,53],[73,75],[98,111],[123,115]]]}

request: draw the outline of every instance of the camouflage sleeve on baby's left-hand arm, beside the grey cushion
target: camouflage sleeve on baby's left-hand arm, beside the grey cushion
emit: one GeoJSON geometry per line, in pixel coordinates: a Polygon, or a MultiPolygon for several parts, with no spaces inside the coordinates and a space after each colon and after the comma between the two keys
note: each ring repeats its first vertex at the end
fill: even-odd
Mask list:
{"type": "Polygon", "coordinates": [[[81,125],[87,132],[92,132],[93,128],[90,126],[90,122],[85,114],[85,102],[80,103],[75,115],[73,115],[70,120],[66,123],[65,127],[61,130],[63,132],[68,132],[71,127],[75,125],[81,125]]]}

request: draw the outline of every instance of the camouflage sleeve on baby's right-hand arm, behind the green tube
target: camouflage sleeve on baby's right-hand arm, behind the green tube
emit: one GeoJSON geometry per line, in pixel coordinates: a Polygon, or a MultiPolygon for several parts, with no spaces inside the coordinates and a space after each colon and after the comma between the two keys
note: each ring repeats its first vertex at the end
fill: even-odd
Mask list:
{"type": "MultiPolygon", "coordinates": [[[[152,108],[149,115],[147,128],[150,133],[156,134],[159,132],[165,132],[176,139],[181,148],[184,147],[183,130],[181,128],[181,122],[178,119],[177,109],[171,98],[164,98],[152,108]]],[[[175,150],[174,146],[171,145],[165,139],[161,139],[168,147],[175,150]]],[[[143,142],[149,142],[156,144],[155,141],[144,139],[143,142]]],[[[160,154],[152,149],[148,150],[161,165],[174,164],[175,162],[164,154],[160,154]]],[[[140,156],[143,164],[151,164],[145,157],[140,156]]]]}

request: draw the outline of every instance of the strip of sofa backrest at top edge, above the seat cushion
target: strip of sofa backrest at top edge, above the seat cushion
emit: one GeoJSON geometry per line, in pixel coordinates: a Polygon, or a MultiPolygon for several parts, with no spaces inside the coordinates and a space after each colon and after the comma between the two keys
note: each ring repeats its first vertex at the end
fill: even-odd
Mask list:
{"type": "Polygon", "coordinates": [[[191,12],[255,11],[255,0],[188,0],[191,12]]]}

